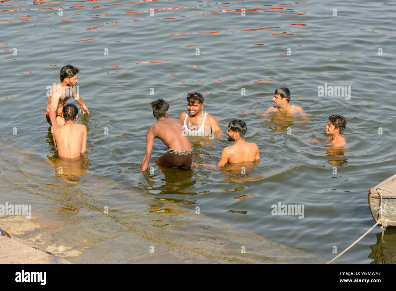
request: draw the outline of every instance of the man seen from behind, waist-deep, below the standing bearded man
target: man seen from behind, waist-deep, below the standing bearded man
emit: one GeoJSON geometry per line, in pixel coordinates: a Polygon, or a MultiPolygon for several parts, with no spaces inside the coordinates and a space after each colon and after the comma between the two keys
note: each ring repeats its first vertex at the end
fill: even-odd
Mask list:
{"type": "Polygon", "coordinates": [[[77,124],[78,109],[67,104],[62,109],[65,124],[53,132],[53,142],[60,158],[79,158],[86,152],[87,127],[77,124]]]}

